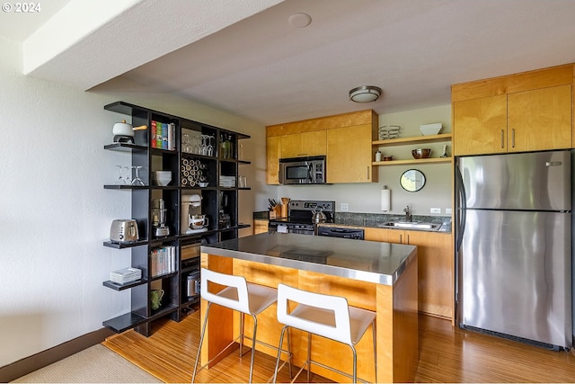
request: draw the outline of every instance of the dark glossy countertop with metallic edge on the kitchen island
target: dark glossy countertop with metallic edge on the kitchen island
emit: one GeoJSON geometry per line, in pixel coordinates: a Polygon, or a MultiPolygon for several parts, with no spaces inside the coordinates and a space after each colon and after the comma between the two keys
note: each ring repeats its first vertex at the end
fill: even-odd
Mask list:
{"type": "Polygon", "coordinates": [[[262,233],[201,246],[201,252],[393,285],[416,246],[292,233],[262,233]]]}

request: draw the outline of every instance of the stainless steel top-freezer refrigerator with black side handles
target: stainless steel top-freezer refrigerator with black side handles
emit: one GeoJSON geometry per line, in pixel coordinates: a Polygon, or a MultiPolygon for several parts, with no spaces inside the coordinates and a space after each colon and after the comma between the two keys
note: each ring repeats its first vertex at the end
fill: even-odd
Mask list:
{"type": "Polygon", "coordinates": [[[462,328],[571,348],[571,152],[456,159],[462,328]]]}

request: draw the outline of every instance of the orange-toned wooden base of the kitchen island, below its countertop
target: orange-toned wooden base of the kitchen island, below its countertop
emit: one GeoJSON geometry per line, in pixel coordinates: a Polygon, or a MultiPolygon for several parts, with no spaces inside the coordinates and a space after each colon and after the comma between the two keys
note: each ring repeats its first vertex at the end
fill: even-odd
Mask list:
{"type": "MultiPolygon", "coordinates": [[[[201,254],[201,265],[217,272],[245,276],[247,281],[274,288],[279,282],[283,282],[302,290],[343,296],[348,299],[349,305],[376,310],[377,381],[406,382],[415,379],[418,353],[417,255],[406,266],[394,285],[358,281],[205,253],[201,254]]],[[[205,307],[206,302],[202,299],[202,318],[205,316],[205,307]]],[[[216,307],[212,307],[211,310],[214,312],[210,314],[208,321],[205,347],[201,355],[202,364],[208,362],[209,358],[215,356],[238,335],[239,316],[233,316],[233,312],[225,308],[217,308],[216,315],[216,307]]],[[[277,321],[276,311],[277,307],[274,304],[258,316],[257,338],[271,345],[279,344],[282,327],[277,321]]],[[[252,326],[252,318],[245,317],[246,335],[252,335],[252,326]]],[[[307,335],[297,330],[292,330],[290,335],[294,363],[296,366],[302,366],[307,351],[307,335]]],[[[249,345],[250,341],[245,343],[249,345]]],[[[284,345],[287,346],[286,341],[284,345]]],[[[356,346],[358,377],[375,382],[372,345],[371,329],[367,329],[366,335],[356,346]]],[[[258,344],[256,349],[276,356],[276,351],[264,345],[258,344]]],[[[232,351],[234,349],[230,349],[229,352],[232,351]]],[[[312,360],[324,362],[341,371],[352,371],[352,353],[349,346],[319,336],[312,338],[312,360]]],[[[257,361],[255,364],[257,365],[257,361]]],[[[350,381],[338,373],[327,371],[314,364],[312,371],[338,382],[350,381]]]]}

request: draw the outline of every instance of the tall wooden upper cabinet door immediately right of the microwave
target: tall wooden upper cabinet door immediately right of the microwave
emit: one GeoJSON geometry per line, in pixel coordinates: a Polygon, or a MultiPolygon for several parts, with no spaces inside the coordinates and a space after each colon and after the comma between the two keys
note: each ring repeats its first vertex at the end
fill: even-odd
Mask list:
{"type": "Polygon", "coordinates": [[[368,183],[371,165],[371,124],[328,129],[327,183],[368,183]]]}

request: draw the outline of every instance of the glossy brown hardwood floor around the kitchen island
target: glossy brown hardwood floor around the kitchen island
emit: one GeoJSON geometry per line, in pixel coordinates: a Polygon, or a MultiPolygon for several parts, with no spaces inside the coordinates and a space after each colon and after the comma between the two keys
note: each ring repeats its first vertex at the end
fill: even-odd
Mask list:
{"type": "MultiPolygon", "coordinates": [[[[575,353],[547,351],[452,327],[435,317],[420,315],[420,359],[417,382],[575,382],[575,353]]],[[[198,351],[199,311],[180,323],[158,320],[149,337],[134,331],[113,335],[103,344],[164,382],[190,382],[198,351]]],[[[246,348],[249,351],[249,348],[246,348]]],[[[232,353],[197,382],[246,382],[250,354],[232,353]]],[[[256,353],[254,382],[267,382],[275,359],[256,353]]],[[[296,370],[294,370],[296,372],[296,370]]],[[[329,382],[314,375],[312,382],[329,382]]],[[[279,381],[287,382],[288,369],[279,381]]],[[[305,372],[298,379],[305,381],[305,372]]]]}

